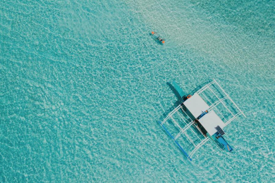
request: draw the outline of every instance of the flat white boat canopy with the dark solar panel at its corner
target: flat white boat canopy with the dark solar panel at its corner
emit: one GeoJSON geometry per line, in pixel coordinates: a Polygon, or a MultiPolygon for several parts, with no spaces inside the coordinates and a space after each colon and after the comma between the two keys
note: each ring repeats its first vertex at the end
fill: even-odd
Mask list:
{"type": "Polygon", "coordinates": [[[218,115],[213,110],[205,114],[202,118],[199,119],[199,121],[200,124],[211,136],[217,132],[215,127],[220,126],[221,128],[223,128],[226,126],[221,120],[221,118],[218,117],[218,115]]]}

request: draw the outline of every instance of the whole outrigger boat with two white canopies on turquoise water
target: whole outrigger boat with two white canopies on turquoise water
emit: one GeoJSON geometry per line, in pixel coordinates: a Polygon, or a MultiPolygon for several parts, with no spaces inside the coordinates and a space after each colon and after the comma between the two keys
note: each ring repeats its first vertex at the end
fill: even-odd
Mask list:
{"type": "Polygon", "coordinates": [[[220,149],[232,152],[233,148],[224,138],[223,128],[237,116],[246,116],[217,81],[213,78],[193,95],[187,95],[174,81],[173,84],[183,102],[159,123],[187,158],[192,161],[193,154],[209,139],[220,149]],[[173,124],[175,136],[165,127],[166,123],[173,124]],[[180,142],[193,146],[191,152],[187,153],[180,142]]]}

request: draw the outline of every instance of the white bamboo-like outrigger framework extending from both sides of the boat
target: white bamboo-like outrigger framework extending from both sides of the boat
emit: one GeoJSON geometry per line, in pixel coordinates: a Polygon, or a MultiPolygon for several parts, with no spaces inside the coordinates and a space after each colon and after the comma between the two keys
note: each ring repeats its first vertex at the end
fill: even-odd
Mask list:
{"type": "MultiPolygon", "coordinates": [[[[222,112],[220,110],[218,110],[217,108],[217,105],[219,104],[222,104],[228,113],[231,114],[231,118],[229,120],[226,120],[225,122],[225,126],[227,126],[228,124],[230,124],[235,118],[237,118],[238,116],[240,115],[243,115],[244,117],[245,114],[240,110],[240,108],[237,106],[237,104],[229,97],[229,95],[224,91],[224,89],[220,86],[220,84],[218,84],[218,82],[213,78],[213,81],[211,81],[210,83],[204,85],[202,88],[200,88],[198,91],[196,91],[195,93],[197,93],[198,95],[202,95],[208,102],[210,102],[210,106],[209,106],[209,109],[207,109],[207,111],[211,111],[213,109],[215,109],[215,111],[217,111],[225,120],[226,118],[224,117],[224,115],[222,115],[222,112]],[[218,95],[210,88],[211,85],[215,85],[217,86],[220,91],[222,91],[222,94],[225,95],[223,98],[220,98],[218,97],[218,95]],[[209,90],[212,94],[214,94],[216,96],[216,98],[218,100],[216,100],[215,102],[211,102],[211,100],[209,98],[207,98],[207,96],[204,94],[204,91],[206,90],[209,90]],[[235,107],[234,110],[235,110],[235,113],[234,111],[230,110],[229,108],[232,107],[232,106],[226,106],[226,103],[224,102],[225,100],[229,100],[233,106],[235,107]],[[237,113],[236,113],[237,112],[237,113]]],[[[200,96],[201,97],[201,96],[200,96]]],[[[192,118],[194,117],[190,117],[185,111],[186,109],[183,108],[184,106],[184,103],[178,105],[177,107],[174,108],[174,110],[172,110],[168,115],[167,117],[159,123],[160,125],[164,128],[164,130],[168,133],[168,135],[173,139],[173,141],[178,145],[178,147],[181,149],[181,151],[187,156],[187,158],[192,161],[192,156],[194,155],[194,153],[202,146],[204,145],[210,138],[205,135],[198,126],[196,126],[194,124],[194,121],[192,118]],[[180,114],[181,111],[183,114],[186,115],[186,117],[182,117],[183,115],[180,114]],[[180,116],[180,119],[185,123],[185,126],[184,127],[181,127],[179,125],[179,123],[174,119],[173,115],[174,114],[178,114],[180,116]],[[165,122],[168,120],[168,119],[171,119],[174,126],[177,126],[180,131],[179,133],[174,137],[171,135],[171,133],[167,130],[167,128],[164,126],[165,122]],[[190,122],[191,120],[191,122],[190,122]],[[203,135],[204,138],[200,138],[197,133],[195,131],[193,131],[193,129],[191,127],[196,127],[200,133],[203,135]],[[195,144],[195,142],[189,137],[189,135],[186,133],[186,131],[190,129],[192,131],[192,133],[194,133],[198,139],[200,139],[200,142],[198,144],[195,144]],[[183,148],[182,146],[177,142],[177,138],[179,136],[181,136],[182,134],[184,134],[188,139],[189,141],[194,145],[194,149],[188,154],[183,148]]],[[[196,117],[195,117],[196,118],[196,117]]]]}

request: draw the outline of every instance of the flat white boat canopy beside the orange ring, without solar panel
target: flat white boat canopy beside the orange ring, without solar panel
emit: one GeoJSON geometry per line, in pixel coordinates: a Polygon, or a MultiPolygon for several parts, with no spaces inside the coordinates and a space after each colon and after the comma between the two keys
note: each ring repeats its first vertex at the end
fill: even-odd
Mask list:
{"type": "Polygon", "coordinates": [[[204,102],[204,100],[197,93],[194,93],[191,98],[185,100],[183,104],[195,118],[200,116],[200,114],[205,110],[209,109],[207,103],[204,102]]]}

